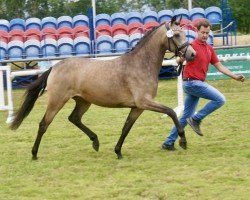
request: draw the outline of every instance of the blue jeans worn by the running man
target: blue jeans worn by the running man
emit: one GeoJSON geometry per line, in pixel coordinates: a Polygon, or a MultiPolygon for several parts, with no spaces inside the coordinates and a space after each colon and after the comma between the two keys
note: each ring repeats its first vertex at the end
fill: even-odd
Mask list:
{"type": "MultiPolygon", "coordinates": [[[[187,125],[187,118],[193,117],[194,120],[201,121],[207,115],[220,108],[226,101],[224,95],[220,91],[206,82],[198,80],[183,81],[182,86],[186,93],[186,98],[184,112],[179,119],[179,122],[183,128],[187,125]],[[194,114],[200,98],[208,99],[210,101],[201,110],[194,114]]],[[[177,129],[176,127],[173,127],[169,136],[164,141],[164,144],[172,145],[177,138],[177,129]]]]}

